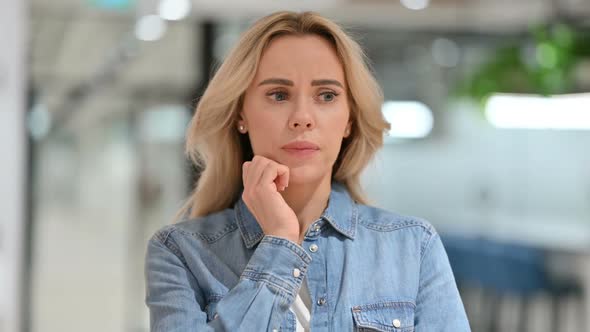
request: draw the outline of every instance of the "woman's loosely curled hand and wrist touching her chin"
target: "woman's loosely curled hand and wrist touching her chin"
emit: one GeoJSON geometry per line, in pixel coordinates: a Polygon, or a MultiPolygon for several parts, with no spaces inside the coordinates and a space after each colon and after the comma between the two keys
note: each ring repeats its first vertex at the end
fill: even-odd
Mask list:
{"type": "Polygon", "coordinates": [[[242,165],[242,199],[266,235],[299,241],[299,221],[279,191],[289,184],[289,168],[254,156],[242,165]]]}

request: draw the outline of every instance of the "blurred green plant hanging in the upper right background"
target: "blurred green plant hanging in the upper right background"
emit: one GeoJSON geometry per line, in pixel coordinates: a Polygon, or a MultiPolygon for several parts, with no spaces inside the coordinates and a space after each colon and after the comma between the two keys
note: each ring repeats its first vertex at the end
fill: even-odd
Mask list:
{"type": "Polygon", "coordinates": [[[523,43],[498,48],[469,77],[456,86],[455,94],[485,104],[494,93],[552,95],[576,89],[573,70],[590,59],[590,33],[566,24],[530,29],[523,43]]]}

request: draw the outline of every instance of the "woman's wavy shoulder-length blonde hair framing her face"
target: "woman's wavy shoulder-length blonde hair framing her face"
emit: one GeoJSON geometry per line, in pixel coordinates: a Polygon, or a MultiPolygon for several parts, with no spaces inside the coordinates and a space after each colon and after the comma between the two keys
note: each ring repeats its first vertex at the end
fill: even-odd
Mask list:
{"type": "Polygon", "coordinates": [[[318,35],[335,48],[348,82],[351,134],[332,170],[351,197],[367,204],[360,176],[383,145],[389,124],[381,114],[383,94],[360,46],[336,23],[313,12],[282,11],[256,21],[229,52],[201,97],[186,136],[185,153],[202,170],[192,194],[175,216],[205,216],[231,207],[243,189],[242,163],[253,156],[237,127],[244,93],[267,45],[284,35],[318,35]]]}

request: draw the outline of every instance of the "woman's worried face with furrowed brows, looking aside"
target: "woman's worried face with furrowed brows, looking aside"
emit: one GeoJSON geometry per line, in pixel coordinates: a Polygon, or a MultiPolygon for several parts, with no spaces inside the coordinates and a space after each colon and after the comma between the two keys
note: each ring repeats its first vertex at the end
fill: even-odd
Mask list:
{"type": "Polygon", "coordinates": [[[316,35],[278,37],[262,54],[239,124],[255,155],[289,167],[289,183],[326,180],[350,132],[347,89],[328,41],[316,35]],[[299,141],[315,148],[285,147],[299,141]]]}

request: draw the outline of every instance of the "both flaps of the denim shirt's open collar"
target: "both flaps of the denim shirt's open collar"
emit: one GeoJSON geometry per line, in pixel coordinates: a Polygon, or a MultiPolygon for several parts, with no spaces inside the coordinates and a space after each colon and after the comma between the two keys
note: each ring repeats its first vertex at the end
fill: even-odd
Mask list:
{"type": "MultiPolygon", "coordinates": [[[[247,248],[252,248],[264,237],[262,228],[256,221],[256,218],[248,207],[242,195],[234,205],[235,219],[244,239],[247,248]]],[[[328,206],[324,210],[320,219],[326,220],[332,227],[347,236],[354,239],[356,234],[356,223],[358,219],[358,210],[356,203],[350,197],[346,187],[340,182],[332,181],[330,198],[328,206]]]]}

